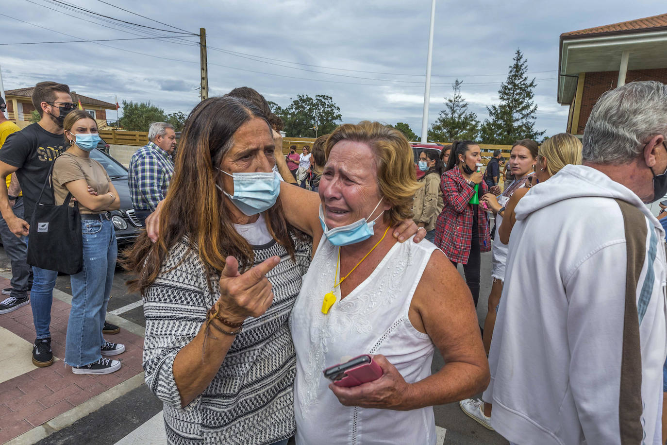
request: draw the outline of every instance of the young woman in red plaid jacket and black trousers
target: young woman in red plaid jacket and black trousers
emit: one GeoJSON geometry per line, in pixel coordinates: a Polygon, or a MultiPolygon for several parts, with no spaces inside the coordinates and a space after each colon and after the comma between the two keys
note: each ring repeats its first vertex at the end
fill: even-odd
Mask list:
{"type": "Polygon", "coordinates": [[[444,206],[436,222],[435,242],[454,266],[463,265],[475,306],[480,297],[480,252],[491,250],[488,215],[479,204],[470,203],[475,193],[482,197],[488,191],[482,173],[476,171],[476,164],[482,161],[480,151],[473,141],[452,144],[440,181],[444,206]]]}

